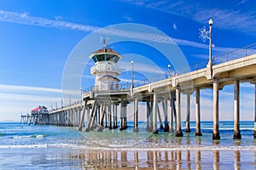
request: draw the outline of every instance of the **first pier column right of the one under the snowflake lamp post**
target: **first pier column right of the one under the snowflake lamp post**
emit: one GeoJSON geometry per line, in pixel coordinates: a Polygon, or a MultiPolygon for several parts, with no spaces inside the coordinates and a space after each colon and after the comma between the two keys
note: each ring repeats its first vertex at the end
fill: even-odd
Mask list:
{"type": "Polygon", "coordinates": [[[233,139],[241,139],[239,111],[239,80],[234,81],[234,135],[233,139]]]}

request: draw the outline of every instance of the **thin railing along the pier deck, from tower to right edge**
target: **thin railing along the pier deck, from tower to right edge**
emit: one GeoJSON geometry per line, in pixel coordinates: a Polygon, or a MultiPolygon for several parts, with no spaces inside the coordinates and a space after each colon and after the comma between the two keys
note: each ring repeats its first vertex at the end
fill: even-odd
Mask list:
{"type": "MultiPolygon", "coordinates": [[[[230,52],[219,54],[214,57],[212,57],[212,65],[218,65],[224,62],[228,62],[234,59],[240,59],[242,57],[247,57],[248,55],[256,54],[256,43],[253,43],[249,46],[246,46],[244,48],[238,48],[235,50],[232,50],[230,52]]],[[[149,79],[144,79],[141,81],[134,82],[133,87],[137,88],[143,85],[147,85],[152,82],[158,82],[161,80],[164,80],[169,77],[175,77],[177,75],[189,73],[192,71],[198,71],[204,68],[207,68],[208,59],[203,59],[199,62],[196,62],[192,65],[189,65],[187,67],[183,67],[174,71],[166,71],[163,72],[160,75],[157,75],[156,77],[150,77],[149,79]]],[[[124,89],[130,89],[131,83],[126,84],[120,84],[118,88],[114,88],[113,90],[124,90],[124,89]]],[[[90,92],[90,91],[97,91],[97,88],[95,86],[92,86],[90,88],[84,89],[84,93],[90,92]]]]}

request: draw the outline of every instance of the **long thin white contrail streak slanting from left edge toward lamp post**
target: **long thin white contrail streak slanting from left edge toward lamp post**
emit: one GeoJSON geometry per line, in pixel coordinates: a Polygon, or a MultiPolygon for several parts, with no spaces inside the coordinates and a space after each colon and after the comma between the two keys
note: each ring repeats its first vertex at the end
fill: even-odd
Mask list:
{"type": "MultiPolygon", "coordinates": [[[[142,1],[142,3],[144,3],[142,1]]],[[[67,22],[62,20],[49,20],[41,17],[33,17],[27,13],[14,13],[9,11],[0,10],[0,21],[11,22],[15,24],[22,24],[27,26],[43,26],[43,27],[54,27],[54,28],[65,28],[70,30],[86,31],[92,32],[99,29],[97,26],[88,26],[80,25],[73,22],[67,22]]],[[[113,29],[103,29],[102,33],[113,34],[120,37],[131,37],[137,39],[148,40],[152,42],[161,42],[161,43],[173,43],[176,42],[177,45],[190,46],[195,48],[208,48],[206,44],[191,42],[188,40],[177,39],[174,37],[166,37],[163,35],[150,34],[144,32],[135,32],[135,31],[123,31],[123,30],[113,30],[113,29]]],[[[226,51],[230,48],[214,48],[217,51],[226,51]]]]}

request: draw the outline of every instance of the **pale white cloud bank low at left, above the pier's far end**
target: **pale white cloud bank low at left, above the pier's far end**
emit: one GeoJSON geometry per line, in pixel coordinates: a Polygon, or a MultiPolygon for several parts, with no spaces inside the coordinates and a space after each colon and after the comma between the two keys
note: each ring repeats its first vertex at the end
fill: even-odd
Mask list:
{"type": "MultiPolygon", "coordinates": [[[[41,88],[29,86],[15,86],[0,84],[0,120],[19,121],[20,112],[29,113],[32,108],[38,105],[45,105],[49,109],[61,106],[61,94],[71,94],[71,101],[78,101],[74,98],[77,92],[62,91],[57,88],[41,88]],[[72,95],[73,94],[73,95],[72,95]]],[[[64,99],[63,99],[63,105],[64,99]]]]}

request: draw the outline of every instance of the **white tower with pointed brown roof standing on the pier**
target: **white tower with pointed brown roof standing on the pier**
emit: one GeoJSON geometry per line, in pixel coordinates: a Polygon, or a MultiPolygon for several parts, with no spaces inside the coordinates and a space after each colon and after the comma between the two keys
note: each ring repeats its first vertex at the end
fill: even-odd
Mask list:
{"type": "Polygon", "coordinates": [[[121,69],[117,65],[122,55],[109,48],[108,45],[90,54],[95,65],[90,68],[90,74],[95,78],[95,90],[116,90],[119,88],[120,80],[117,78],[121,69]]]}

